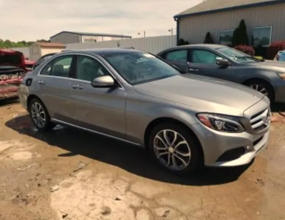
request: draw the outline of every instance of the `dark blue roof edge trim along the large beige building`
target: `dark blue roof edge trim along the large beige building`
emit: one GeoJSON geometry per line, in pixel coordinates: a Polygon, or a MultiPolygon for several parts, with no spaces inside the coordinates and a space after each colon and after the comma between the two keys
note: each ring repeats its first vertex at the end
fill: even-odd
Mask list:
{"type": "Polygon", "coordinates": [[[221,9],[215,9],[210,11],[203,11],[203,12],[195,12],[190,14],[178,14],[174,16],[174,20],[189,17],[189,16],[195,16],[195,15],[206,15],[216,12],[226,12],[226,11],[233,11],[238,9],[247,9],[247,8],[254,8],[254,7],[260,7],[260,6],[270,6],[275,4],[285,3],[285,0],[274,0],[270,2],[261,2],[261,3],[254,3],[254,4],[247,4],[247,5],[241,5],[241,6],[235,6],[235,7],[229,7],[229,8],[221,8],[221,9]]]}

